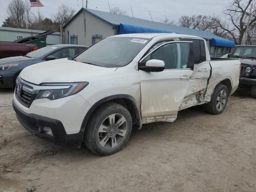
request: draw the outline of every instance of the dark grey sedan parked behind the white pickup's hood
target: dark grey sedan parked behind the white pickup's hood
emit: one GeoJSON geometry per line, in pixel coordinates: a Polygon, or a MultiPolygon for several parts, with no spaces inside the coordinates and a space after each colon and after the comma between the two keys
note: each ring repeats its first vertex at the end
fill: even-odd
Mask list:
{"type": "Polygon", "coordinates": [[[26,56],[0,59],[0,87],[15,87],[18,74],[32,64],[74,57],[86,50],[88,46],[59,44],[47,46],[26,54],[26,56]]]}

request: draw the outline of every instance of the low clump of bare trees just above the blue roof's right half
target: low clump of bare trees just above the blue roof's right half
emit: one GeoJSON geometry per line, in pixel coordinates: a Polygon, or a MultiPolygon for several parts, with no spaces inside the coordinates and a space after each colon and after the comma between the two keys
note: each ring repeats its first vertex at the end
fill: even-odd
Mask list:
{"type": "Polygon", "coordinates": [[[182,27],[198,29],[203,31],[212,30],[211,16],[205,15],[182,16],[179,19],[179,25],[182,27]]]}

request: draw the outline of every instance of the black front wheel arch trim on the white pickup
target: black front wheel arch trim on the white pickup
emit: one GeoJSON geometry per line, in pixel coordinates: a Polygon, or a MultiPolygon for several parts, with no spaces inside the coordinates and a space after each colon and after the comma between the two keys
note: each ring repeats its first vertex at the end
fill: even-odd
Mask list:
{"type": "Polygon", "coordinates": [[[102,98],[101,100],[93,104],[90,110],[86,113],[84,117],[84,120],[81,126],[81,131],[84,132],[86,128],[86,124],[91,114],[94,112],[94,110],[96,110],[98,107],[100,107],[102,104],[106,102],[115,102],[126,107],[132,116],[132,124],[138,125],[139,129],[141,128],[142,122],[141,122],[140,110],[135,98],[126,94],[118,94],[118,95],[112,95],[112,96],[102,98]]]}

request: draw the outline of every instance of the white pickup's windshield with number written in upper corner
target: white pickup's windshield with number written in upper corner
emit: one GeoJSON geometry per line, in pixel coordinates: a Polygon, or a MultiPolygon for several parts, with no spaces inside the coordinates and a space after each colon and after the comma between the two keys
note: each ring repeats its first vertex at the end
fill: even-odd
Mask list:
{"type": "Polygon", "coordinates": [[[122,67],[129,64],[150,39],[110,37],[94,44],[75,60],[102,67],[122,67]]]}

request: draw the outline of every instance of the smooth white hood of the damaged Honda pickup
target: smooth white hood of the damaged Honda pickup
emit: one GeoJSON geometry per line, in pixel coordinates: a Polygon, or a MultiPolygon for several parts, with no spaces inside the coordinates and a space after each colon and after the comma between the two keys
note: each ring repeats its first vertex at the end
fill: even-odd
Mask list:
{"type": "Polygon", "coordinates": [[[115,70],[116,68],[94,66],[65,58],[28,66],[20,72],[20,77],[34,84],[85,82],[94,77],[108,77],[106,74],[115,70]]]}

